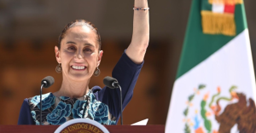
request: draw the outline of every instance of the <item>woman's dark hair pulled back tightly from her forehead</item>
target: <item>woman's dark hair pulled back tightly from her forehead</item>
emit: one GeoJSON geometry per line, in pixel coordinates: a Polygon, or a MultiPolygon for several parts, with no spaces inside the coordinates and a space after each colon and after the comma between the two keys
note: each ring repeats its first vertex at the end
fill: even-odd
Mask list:
{"type": "Polygon", "coordinates": [[[94,24],[92,24],[90,21],[87,21],[87,20],[73,20],[64,27],[58,39],[59,49],[61,49],[61,40],[64,38],[65,33],[67,32],[68,29],[72,28],[73,26],[88,26],[90,27],[91,30],[95,31],[97,35],[96,40],[99,43],[99,50],[101,50],[102,40],[101,40],[100,32],[98,32],[98,29],[94,24]]]}

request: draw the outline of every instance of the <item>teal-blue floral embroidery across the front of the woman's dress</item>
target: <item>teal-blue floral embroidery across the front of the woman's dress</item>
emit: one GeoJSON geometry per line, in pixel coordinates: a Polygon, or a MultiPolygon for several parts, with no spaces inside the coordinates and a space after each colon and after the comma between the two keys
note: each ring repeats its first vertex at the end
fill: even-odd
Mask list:
{"type": "MultiPolygon", "coordinates": [[[[70,119],[94,119],[100,124],[116,124],[116,119],[109,113],[108,105],[96,100],[91,90],[87,99],[79,100],[66,96],[55,97],[52,93],[42,95],[42,124],[64,124],[70,119]]],[[[40,96],[29,98],[32,119],[40,121],[40,96]]]]}

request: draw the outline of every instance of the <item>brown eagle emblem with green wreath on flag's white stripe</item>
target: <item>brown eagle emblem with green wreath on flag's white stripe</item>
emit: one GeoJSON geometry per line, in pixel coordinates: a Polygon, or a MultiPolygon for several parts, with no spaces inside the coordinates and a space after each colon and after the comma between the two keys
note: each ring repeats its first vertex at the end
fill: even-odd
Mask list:
{"type": "MultiPolygon", "coordinates": [[[[224,133],[230,132],[234,124],[237,124],[237,130],[241,132],[255,132],[256,124],[256,107],[252,98],[247,101],[247,96],[236,91],[236,86],[230,87],[230,95],[221,95],[220,87],[217,88],[216,94],[211,95],[209,92],[203,95],[200,108],[195,110],[194,117],[189,118],[188,113],[190,107],[193,107],[193,99],[196,95],[200,95],[201,90],[205,90],[206,85],[199,85],[198,89],[194,89],[194,93],[189,95],[187,107],[183,111],[185,123],[185,133],[190,133],[190,127],[195,133],[224,133]],[[210,99],[210,101],[208,101],[210,99]],[[232,102],[235,101],[235,102],[232,102]],[[222,107],[220,102],[230,102],[222,107]],[[232,103],[231,103],[232,102],[232,103]],[[248,106],[247,106],[248,102],[248,106]],[[214,116],[211,119],[210,116],[214,116]],[[216,120],[219,124],[218,129],[212,129],[212,121],[216,120]]],[[[197,103],[199,104],[199,103],[197,103]]]]}

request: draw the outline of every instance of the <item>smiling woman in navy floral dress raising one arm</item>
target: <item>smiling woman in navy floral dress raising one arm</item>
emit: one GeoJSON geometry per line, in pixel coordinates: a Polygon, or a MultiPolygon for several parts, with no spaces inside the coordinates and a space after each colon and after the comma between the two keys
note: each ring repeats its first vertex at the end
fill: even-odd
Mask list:
{"type": "MultiPolygon", "coordinates": [[[[148,47],[147,0],[135,0],[131,43],[113,68],[112,76],[122,87],[123,108],[131,101],[148,47]]],[[[44,94],[42,124],[63,124],[70,119],[93,119],[100,124],[117,124],[120,116],[119,90],[89,87],[90,78],[100,73],[100,34],[92,23],[74,20],[65,26],[55,46],[56,72],[62,73],[60,90],[44,94]]],[[[26,98],[18,124],[39,124],[40,96],[26,98]]]]}

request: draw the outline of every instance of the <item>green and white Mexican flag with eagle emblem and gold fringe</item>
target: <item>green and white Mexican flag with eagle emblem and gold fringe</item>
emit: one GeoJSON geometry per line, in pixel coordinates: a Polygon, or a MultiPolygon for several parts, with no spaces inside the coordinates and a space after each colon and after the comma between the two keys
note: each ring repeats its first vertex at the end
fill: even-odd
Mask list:
{"type": "Polygon", "coordinates": [[[253,133],[255,90],[243,1],[193,0],[166,133],[253,133]]]}

